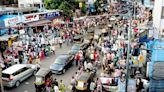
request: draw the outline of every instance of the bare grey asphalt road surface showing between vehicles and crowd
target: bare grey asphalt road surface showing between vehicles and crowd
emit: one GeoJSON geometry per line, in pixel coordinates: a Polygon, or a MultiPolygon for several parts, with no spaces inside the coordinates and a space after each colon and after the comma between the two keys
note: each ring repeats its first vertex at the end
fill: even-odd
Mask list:
{"type": "MultiPolygon", "coordinates": [[[[67,54],[68,51],[70,50],[71,46],[66,46],[63,45],[62,48],[59,48],[58,46],[56,47],[56,55],[52,55],[50,57],[47,57],[44,61],[41,61],[41,68],[49,68],[49,66],[54,62],[55,58],[61,54],[67,54]]],[[[63,80],[63,82],[68,85],[70,83],[72,75],[75,74],[77,70],[76,66],[72,66],[69,68],[65,74],[63,75],[54,75],[54,78],[56,78],[58,81],[63,80]]],[[[34,79],[35,77],[32,76],[22,82],[19,87],[17,88],[5,88],[5,92],[35,92],[35,87],[34,87],[34,79]]]]}

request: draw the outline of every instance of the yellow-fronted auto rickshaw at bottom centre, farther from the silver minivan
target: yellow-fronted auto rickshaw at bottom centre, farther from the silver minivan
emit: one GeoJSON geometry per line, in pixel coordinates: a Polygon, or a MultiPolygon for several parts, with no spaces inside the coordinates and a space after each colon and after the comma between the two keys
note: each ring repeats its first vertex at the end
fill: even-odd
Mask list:
{"type": "Polygon", "coordinates": [[[83,72],[77,79],[76,90],[78,92],[89,92],[89,84],[94,77],[94,72],[83,72]]]}

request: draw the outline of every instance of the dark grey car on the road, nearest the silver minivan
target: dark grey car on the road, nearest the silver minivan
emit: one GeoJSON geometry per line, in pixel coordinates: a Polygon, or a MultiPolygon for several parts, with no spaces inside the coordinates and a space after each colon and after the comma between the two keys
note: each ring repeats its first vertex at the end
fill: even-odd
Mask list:
{"type": "Polygon", "coordinates": [[[73,55],[60,55],[50,66],[50,70],[55,74],[63,74],[73,64],[73,55]]]}

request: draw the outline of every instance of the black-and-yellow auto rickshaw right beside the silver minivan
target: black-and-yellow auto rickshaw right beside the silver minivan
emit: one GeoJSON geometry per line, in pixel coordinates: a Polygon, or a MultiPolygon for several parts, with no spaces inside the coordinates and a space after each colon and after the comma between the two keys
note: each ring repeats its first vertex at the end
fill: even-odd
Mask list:
{"type": "Polygon", "coordinates": [[[50,69],[42,68],[35,74],[34,84],[35,84],[36,92],[45,92],[46,91],[47,79],[52,81],[52,73],[51,73],[50,69]]]}

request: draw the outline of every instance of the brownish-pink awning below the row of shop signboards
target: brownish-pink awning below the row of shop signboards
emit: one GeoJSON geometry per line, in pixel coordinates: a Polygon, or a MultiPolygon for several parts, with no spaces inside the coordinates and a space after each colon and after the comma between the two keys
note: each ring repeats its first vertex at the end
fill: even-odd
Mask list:
{"type": "Polygon", "coordinates": [[[45,24],[50,24],[52,21],[50,20],[39,20],[39,21],[35,21],[35,22],[29,22],[26,23],[27,26],[30,27],[35,27],[35,26],[44,26],[45,24]]]}

